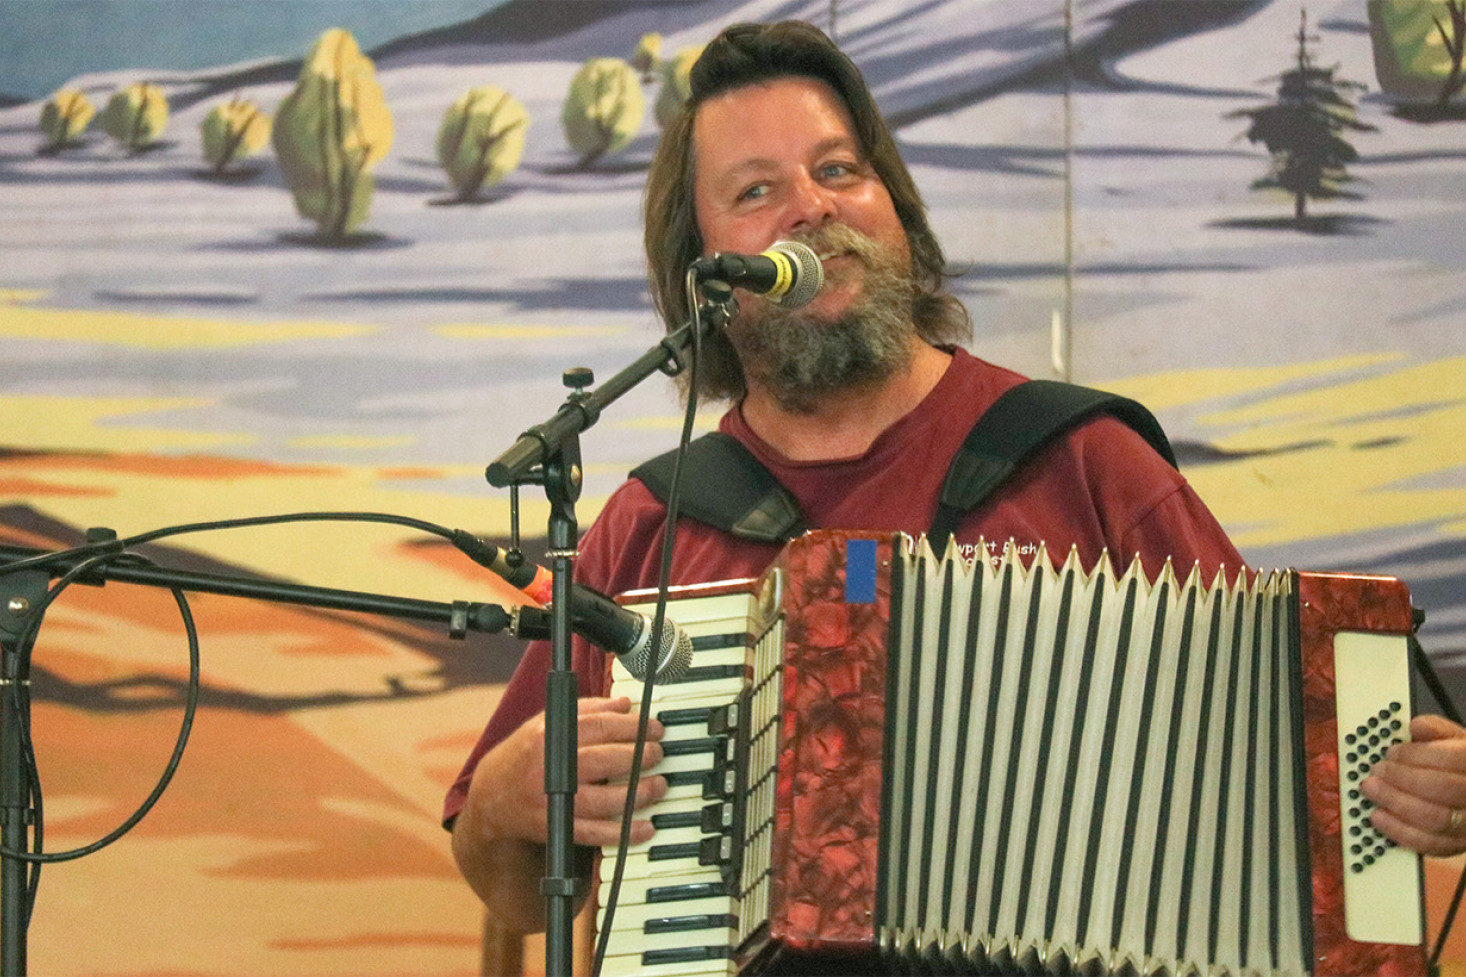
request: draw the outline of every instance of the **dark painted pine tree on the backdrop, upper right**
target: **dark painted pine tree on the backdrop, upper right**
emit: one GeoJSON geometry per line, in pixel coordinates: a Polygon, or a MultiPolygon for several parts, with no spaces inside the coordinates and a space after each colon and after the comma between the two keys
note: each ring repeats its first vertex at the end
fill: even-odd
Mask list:
{"type": "Polygon", "coordinates": [[[1305,12],[1297,28],[1296,63],[1277,78],[1277,100],[1229,113],[1250,119],[1248,139],[1272,154],[1267,176],[1253,180],[1252,188],[1292,194],[1293,220],[1299,224],[1308,219],[1309,200],[1359,200],[1359,194],[1346,189],[1355,179],[1347,166],[1359,153],[1343,133],[1375,131],[1358,119],[1350,101],[1350,94],[1363,85],[1336,78],[1338,66],[1319,67],[1308,48],[1316,40],[1308,32],[1305,12]]]}

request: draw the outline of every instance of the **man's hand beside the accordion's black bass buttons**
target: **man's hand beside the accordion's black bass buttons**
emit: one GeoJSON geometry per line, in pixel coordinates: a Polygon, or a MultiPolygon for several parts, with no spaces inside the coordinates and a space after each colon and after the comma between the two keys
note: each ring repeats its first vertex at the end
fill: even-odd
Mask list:
{"type": "Polygon", "coordinates": [[[1448,719],[1412,719],[1410,742],[1390,747],[1359,789],[1387,838],[1422,855],[1466,851],[1466,729],[1448,719]]]}

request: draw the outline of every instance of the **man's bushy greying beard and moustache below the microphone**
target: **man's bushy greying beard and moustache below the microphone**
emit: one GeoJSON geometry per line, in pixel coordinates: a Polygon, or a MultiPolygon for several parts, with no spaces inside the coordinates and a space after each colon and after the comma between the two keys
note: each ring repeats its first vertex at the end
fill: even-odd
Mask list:
{"type": "Polygon", "coordinates": [[[727,326],[743,373],[783,411],[814,414],[831,395],[877,386],[912,362],[915,283],[877,258],[859,304],[836,320],[759,301],[727,326]]]}

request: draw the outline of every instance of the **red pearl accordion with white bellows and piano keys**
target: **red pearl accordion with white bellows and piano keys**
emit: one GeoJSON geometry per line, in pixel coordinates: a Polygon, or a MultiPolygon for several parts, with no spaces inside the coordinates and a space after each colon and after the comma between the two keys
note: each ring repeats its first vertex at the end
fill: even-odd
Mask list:
{"type": "Polygon", "coordinates": [[[667,613],[693,667],[603,974],[1425,970],[1358,791],[1407,735],[1399,581],[811,533],[667,613]]]}

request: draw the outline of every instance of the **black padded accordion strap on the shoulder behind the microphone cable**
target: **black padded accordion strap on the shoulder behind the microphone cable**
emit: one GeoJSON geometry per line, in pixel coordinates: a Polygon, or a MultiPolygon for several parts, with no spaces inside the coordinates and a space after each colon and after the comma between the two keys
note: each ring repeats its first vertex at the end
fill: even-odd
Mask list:
{"type": "MultiPolygon", "coordinates": [[[[676,450],[658,455],[632,471],[654,496],[667,500],[676,450]]],[[[688,444],[682,462],[682,511],[711,527],[756,543],[787,543],[805,531],[799,503],[774,475],[721,431],[710,431],[688,444]]]]}

